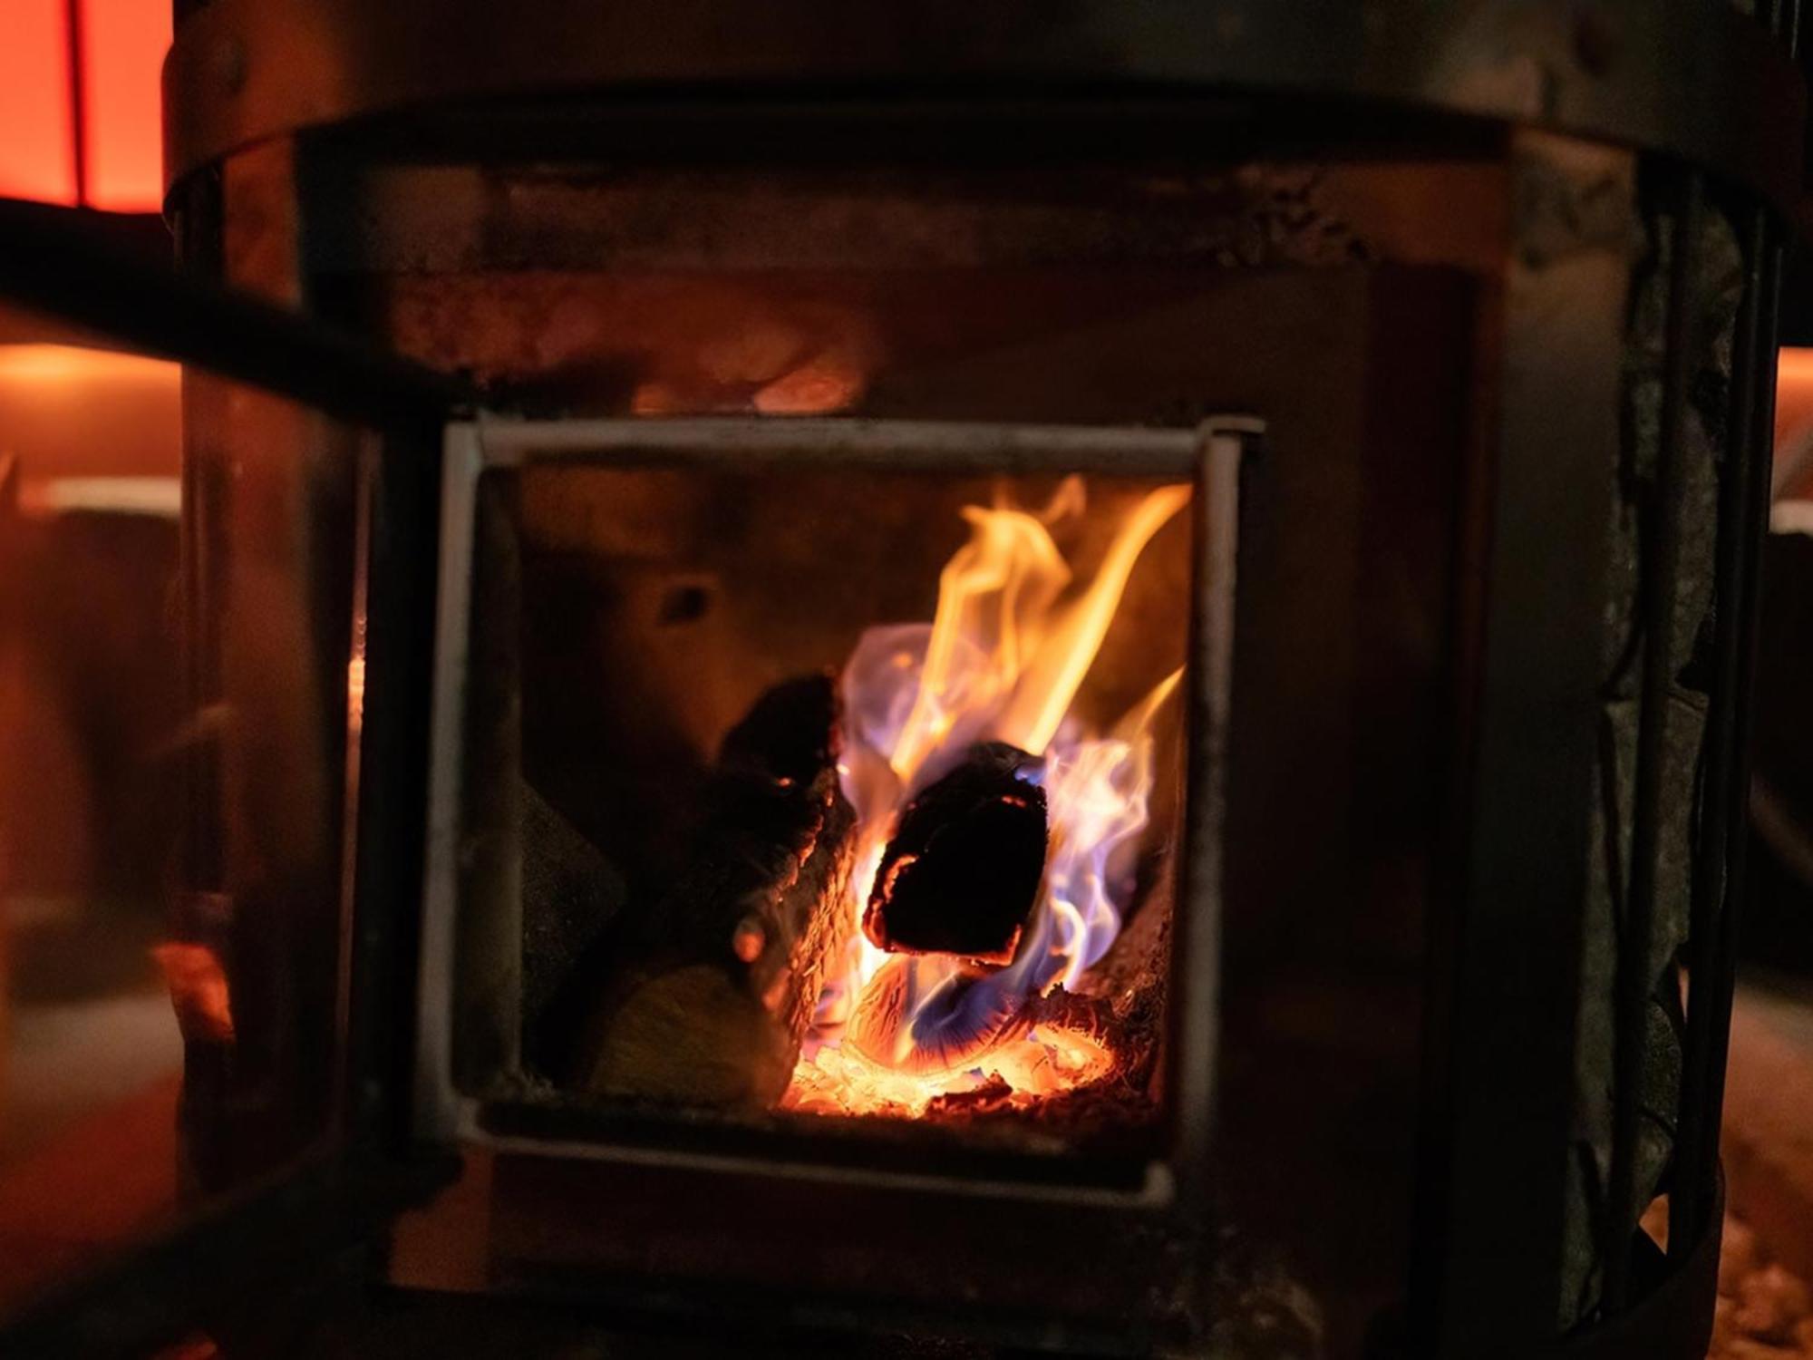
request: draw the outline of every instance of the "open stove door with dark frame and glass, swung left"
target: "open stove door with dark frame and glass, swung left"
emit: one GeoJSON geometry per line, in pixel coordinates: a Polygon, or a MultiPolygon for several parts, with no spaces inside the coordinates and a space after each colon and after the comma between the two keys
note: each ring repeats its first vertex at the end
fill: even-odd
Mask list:
{"type": "Polygon", "coordinates": [[[301,1335],[435,1179],[384,1155],[412,965],[352,901],[419,901],[363,847],[422,843],[453,395],[0,203],[7,1355],[301,1335]]]}

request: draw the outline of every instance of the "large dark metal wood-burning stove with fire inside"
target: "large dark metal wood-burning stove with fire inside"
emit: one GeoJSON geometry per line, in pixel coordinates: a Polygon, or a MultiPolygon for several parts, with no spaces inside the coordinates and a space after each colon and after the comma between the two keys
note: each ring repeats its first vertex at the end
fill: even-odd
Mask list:
{"type": "Polygon", "coordinates": [[[183,256],[312,323],[5,219],[194,363],[265,716],[238,1208],[22,1335],[270,1345],[174,1280],[294,1213],[392,1349],[1702,1353],[1793,15],[442,9],[179,5],[183,256]]]}

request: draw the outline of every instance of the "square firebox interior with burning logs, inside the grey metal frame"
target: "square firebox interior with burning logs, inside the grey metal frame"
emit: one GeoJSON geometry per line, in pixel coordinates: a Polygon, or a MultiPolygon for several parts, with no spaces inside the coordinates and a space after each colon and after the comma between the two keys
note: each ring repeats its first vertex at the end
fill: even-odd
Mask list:
{"type": "Polygon", "coordinates": [[[466,1090],[1149,1124],[1189,497],[486,473],[461,950],[473,977],[515,934],[520,976],[466,1008],[466,1090]],[[517,1073],[471,1061],[509,1030],[517,1073]]]}

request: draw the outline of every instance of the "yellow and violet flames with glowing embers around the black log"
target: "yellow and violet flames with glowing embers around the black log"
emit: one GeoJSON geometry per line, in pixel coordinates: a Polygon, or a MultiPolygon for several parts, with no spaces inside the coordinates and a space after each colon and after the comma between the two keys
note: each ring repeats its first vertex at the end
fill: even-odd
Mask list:
{"type": "Polygon", "coordinates": [[[1149,816],[1151,722],[1182,673],[1108,734],[1084,731],[1071,704],[1135,562],[1188,500],[1188,486],[1140,500],[1077,591],[1048,529],[1081,508],[1077,479],[1042,517],[970,506],[970,542],[939,577],[934,620],[872,627],[858,642],[843,673],[839,765],[859,818],[850,919],[861,927],[901,809],[977,742],[1039,758],[1026,778],[1048,801],[1044,879],[1003,968],[883,954],[856,928],[848,967],[819,1001],[783,1108],[896,1117],[965,1099],[1026,1108],[1117,1070],[1099,1034],[1032,1015],[1041,997],[1075,992],[1120,930],[1149,816]]]}

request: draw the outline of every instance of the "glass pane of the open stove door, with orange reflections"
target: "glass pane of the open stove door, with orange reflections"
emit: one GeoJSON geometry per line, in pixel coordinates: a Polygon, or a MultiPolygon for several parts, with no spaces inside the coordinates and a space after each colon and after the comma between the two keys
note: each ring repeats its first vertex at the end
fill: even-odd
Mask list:
{"type": "Polygon", "coordinates": [[[357,441],[0,316],[0,1311],[330,1132],[357,441]]]}

